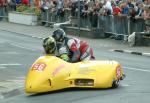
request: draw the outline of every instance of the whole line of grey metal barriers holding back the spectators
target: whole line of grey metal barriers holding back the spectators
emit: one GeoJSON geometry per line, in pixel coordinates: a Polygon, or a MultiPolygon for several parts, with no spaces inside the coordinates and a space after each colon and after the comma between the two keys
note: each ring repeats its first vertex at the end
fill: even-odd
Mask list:
{"type": "MultiPolygon", "coordinates": [[[[0,19],[7,17],[6,13],[0,11],[0,19]],[[3,15],[6,14],[6,15],[3,15]]],[[[4,11],[3,11],[4,12],[4,11]]],[[[57,12],[51,12],[51,10],[45,10],[41,12],[41,22],[45,22],[47,25],[50,23],[60,23],[68,21],[68,17],[72,16],[73,26],[79,26],[81,28],[97,28],[104,29],[104,32],[110,32],[113,34],[129,35],[132,32],[143,32],[145,28],[143,19],[134,19],[127,16],[103,16],[94,13],[88,13],[86,16],[81,15],[80,24],[78,22],[77,12],[72,15],[71,10],[65,9],[63,14],[57,14],[57,12]]]]}

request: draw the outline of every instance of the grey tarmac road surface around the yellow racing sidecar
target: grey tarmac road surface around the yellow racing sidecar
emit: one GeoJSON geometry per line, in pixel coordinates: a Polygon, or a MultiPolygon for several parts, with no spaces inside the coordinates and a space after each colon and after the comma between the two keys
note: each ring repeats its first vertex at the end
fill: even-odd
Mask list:
{"type": "Polygon", "coordinates": [[[41,95],[24,93],[28,68],[42,55],[41,39],[0,31],[0,103],[148,103],[150,101],[149,57],[112,52],[105,47],[94,52],[97,59],[119,61],[127,75],[117,89],[67,89],[41,95]],[[9,92],[9,90],[11,92],[9,92]]]}

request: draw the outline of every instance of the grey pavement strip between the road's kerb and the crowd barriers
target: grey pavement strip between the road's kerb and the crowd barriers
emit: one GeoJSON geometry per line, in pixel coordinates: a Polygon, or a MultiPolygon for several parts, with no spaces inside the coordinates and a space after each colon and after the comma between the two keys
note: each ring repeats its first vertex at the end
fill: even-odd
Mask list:
{"type": "MultiPolygon", "coordinates": [[[[45,38],[52,34],[53,29],[45,26],[28,26],[22,24],[15,24],[6,21],[0,22],[0,30],[14,32],[25,36],[31,36],[34,38],[45,38]]],[[[70,36],[70,35],[69,35],[70,36]]],[[[136,46],[130,47],[128,43],[114,39],[90,39],[85,37],[78,37],[81,40],[86,40],[93,46],[93,48],[104,48],[110,51],[130,53],[135,55],[142,55],[150,57],[150,47],[136,46]]]]}

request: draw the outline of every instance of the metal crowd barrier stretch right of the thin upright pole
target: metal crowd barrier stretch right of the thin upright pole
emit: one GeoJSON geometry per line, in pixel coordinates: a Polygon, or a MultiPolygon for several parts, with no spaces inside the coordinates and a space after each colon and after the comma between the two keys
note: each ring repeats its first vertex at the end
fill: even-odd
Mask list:
{"type": "Polygon", "coordinates": [[[98,16],[89,20],[81,19],[82,27],[84,28],[104,28],[105,32],[113,33],[113,34],[123,34],[129,35],[132,32],[143,32],[145,28],[143,19],[134,19],[132,20],[130,17],[126,16],[98,16]],[[90,23],[90,24],[89,24],[90,23]]]}

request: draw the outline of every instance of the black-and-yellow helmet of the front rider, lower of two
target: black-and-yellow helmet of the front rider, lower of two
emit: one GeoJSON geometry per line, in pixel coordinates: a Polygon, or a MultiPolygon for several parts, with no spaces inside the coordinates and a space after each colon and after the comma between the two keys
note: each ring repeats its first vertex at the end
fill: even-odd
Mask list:
{"type": "Polygon", "coordinates": [[[56,41],[53,37],[47,37],[43,40],[43,47],[46,54],[53,54],[56,50],[56,41]]]}

